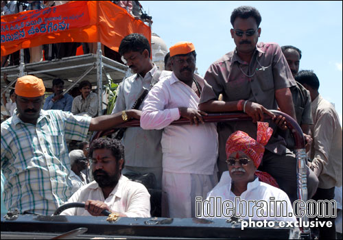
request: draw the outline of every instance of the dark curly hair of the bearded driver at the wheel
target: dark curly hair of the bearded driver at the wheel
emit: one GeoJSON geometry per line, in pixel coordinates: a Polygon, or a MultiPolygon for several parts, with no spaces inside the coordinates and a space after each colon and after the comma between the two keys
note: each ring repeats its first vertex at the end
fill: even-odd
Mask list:
{"type": "Polygon", "coordinates": [[[93,157],[93,152],[95,149],[110,149],[112,152],[112,156],[115,157],[115,160],[118,161],[123,159],[123,166],[121,169],[123,169],[125,165],[125,158],[124,158],[124,146],[121,144],[121,142],[117,139],[95,139],[93,142],[91,142],[89,146],[89,152],[88,152],[88,158],[93,157]]]}

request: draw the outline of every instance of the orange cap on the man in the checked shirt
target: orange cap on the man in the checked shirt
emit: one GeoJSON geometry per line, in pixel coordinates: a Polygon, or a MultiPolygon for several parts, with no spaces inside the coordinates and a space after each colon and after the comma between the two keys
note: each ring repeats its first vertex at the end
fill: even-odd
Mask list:
{"type": "Polygon", "coordinates": [[[45,93],[45,86],[40,78],[25,75],[16,80],[14,92],[21,97],[40,97],[45,93]]]}

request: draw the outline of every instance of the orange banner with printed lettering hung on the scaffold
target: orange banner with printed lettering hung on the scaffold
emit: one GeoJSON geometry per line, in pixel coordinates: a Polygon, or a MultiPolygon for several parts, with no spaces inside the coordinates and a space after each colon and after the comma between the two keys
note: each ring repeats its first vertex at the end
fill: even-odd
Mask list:
{"type": "Polygon", "coordinates": [[[128,34],[151,29],[110,1],[71,1],[42,10],[1,16],[1,56],[49,43],[101,42],[118,51],[128,34]]]}

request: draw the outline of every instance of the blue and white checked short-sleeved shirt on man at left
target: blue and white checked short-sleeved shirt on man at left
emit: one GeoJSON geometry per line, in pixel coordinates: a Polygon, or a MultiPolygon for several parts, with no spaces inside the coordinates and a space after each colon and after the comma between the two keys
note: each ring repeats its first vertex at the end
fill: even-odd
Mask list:
{"type": "Polygon", "coordinates": [[[51,215],[71,197],[66,139],[84,141],[91,117],[40,110],[36,125],[14,116],[1,123],[1,169],[8,210],[51,215]]]}

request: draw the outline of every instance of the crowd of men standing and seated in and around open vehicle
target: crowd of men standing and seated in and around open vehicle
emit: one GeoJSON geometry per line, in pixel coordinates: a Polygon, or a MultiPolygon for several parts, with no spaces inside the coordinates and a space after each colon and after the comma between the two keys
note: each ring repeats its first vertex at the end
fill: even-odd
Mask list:
{"type": "MultiPolygon", "coordinates": [[[[1,123],[8,209],[47,215],[65,202],[85,202],[84,209],[62,214],[97,216],[108,210],[150,217],[150,193],[124,176],[130,173],[154,173],[155,187],[167,199],[165,217],[195,217],[196,197],[276,197],[292,208],[297,199],[294,142],[285,118],[270,110],[287,113],[303,130],[309,199],[333,200],[335,187],[342,186],[342,128],[337,112],[318,92],[318,77],[298,72],[296,47],[258,43],[261,15],[255,8],[236,8],[230,21],[236,48],[211,64],[204,77],[194,73],[193,43],[172,46],[165,58],[169,71],[160,71],[144,36],[123,38],[119,54],[134,75],[119,85],[112,115],[95,117],[97,98],[89,82],[81,82],[81,95],[72,99],[62,92],[63,81],[54,80],[54,94],[43,106],[43,81],[19,77],[12,100],[16,110],[1,123]],[[144,91],[147,97],[132,109],[144,91]],[[236,111],[252,121],[204,123],[209,112],[236,111]],[[189,124],[171,125],[181,117],[189,124]],[[89,149],[82,145],[88,153],[68,152],[66,140],[84,141],[88,131],[108,130],[132,118],[140,119],[141,127],[128,128],[121,142],[97,139],[89,149]],[[82,173],[87,154],[94,178],[89,183],[82,173]]],[[[296,221],[288,217],[284,220],[296,221]]],[[[334,219],[327,221],[334,226],[334,219]]],[[[320,237],[333,239],[335,231],[320,228],[320,237]]]]}

